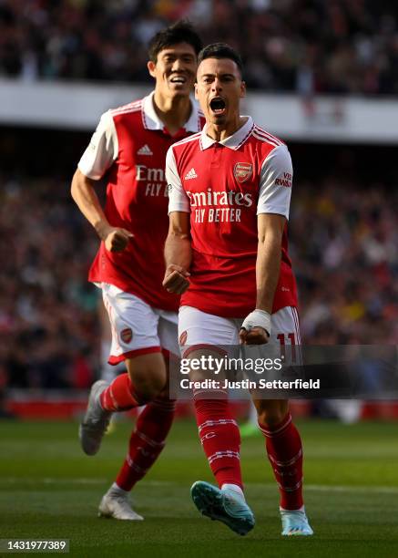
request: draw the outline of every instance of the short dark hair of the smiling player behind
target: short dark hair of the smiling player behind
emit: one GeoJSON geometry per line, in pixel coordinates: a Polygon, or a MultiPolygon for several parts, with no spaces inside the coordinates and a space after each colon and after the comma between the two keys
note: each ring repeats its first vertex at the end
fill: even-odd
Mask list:
{"type": "Polygon", "coordinates": [[[188,43],[196,52],[198,56],[200,48],[203,47],[198,33],[195,31],[192,24],[183,19],[168,26],[153,36],[148,45],[149,60],[157,62],[158,53],[168,47],[173,47],[179,43],[188,43]]]}

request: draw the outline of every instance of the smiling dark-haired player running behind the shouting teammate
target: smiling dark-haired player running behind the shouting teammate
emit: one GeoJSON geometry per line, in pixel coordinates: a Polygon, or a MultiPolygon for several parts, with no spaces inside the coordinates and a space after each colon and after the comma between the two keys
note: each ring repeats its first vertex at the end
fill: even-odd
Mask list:
{"type": "Polygon", "coordinates": [[[101,117],[72,181],[72,196],[101,243],[89,280],[102,289],[112,343],[109,362],[124,361],[127,372],[91,388],[80,425],[82,448],[99,449],[111,414],[147,404],[132,432],[128,455],[107,494],[101,515],[141,520],[128,492],[165,445],[175,402],[169,400],[168,356],[178,354],[179,296],[162,288],[163,245],[168,233],[168,147],[201,129],[204,119],[191,102],[200,39],[179,22],[149,43],[148,71],[154,91],[101,117]],[[107,180],[103,209],[96,181],[107,180]]]}

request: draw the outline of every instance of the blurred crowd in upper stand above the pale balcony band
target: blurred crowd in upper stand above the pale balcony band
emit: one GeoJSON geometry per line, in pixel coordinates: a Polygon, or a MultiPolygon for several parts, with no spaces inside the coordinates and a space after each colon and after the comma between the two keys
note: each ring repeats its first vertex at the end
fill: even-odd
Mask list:
{"type": "Polygon", "coordinates": [[[148,39],[189,18],[237,47],[250,88],[398,93],[391,0],[0,0],[0,76],[148,81],[148,39]]]}

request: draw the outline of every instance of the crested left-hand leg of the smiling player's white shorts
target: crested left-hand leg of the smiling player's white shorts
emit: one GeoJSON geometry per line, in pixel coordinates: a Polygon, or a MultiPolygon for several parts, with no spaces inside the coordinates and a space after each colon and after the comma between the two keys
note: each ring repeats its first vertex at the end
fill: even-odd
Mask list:
{"type": "Polygon", "coordinates": [[[117,364],[135,356],[159,353],[159,317],[153,308],[115,285],[101,286],[112,331],[108,362],[117,364]]]}

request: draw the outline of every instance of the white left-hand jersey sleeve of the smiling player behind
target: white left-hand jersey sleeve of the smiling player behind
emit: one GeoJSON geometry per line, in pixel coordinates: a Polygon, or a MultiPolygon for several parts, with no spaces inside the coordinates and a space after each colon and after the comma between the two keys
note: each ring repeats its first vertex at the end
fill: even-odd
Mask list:
{"type": "Polygon", "coordinates": [[[97,181],[104,176],[117,159],[117,153],[117,131],[110,110],[108,110],[101,116],[97,129],[77,167],[85,176],[97,181]]]}

